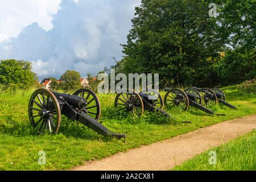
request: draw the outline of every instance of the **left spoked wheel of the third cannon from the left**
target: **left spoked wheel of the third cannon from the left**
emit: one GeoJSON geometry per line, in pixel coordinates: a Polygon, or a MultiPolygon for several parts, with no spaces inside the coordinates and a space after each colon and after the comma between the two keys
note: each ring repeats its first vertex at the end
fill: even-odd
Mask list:
{"type": "Polygon", "coordinates": [[[171,89],[164,96],[164,106],[179,107],[180,111],[188,110],[188,96],[181,89],[171,89]]]}

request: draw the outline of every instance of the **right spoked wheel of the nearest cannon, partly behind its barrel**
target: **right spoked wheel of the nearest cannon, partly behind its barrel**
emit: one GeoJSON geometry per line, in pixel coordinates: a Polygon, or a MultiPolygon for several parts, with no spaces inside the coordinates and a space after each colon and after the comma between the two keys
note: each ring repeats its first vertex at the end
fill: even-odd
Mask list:
{"type": "Polygon", "coordinates": [[[79,96],[85,98],[85,102],[87,102],[86,106],[81,110],[84,111],[86,114],[90,115],[93,119],[100,119],[101,117],[101,104],[100,100],[98,99],[96,93],[94,93],[90,89],[79,89],[73,93],[74,96],[79,96]]]}

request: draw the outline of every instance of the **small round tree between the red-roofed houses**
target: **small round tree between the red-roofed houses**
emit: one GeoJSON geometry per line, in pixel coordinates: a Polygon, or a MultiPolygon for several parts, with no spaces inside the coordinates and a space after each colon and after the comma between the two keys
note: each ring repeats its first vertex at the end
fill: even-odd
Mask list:
{"type": "Polygon", "coordinates": [[[77,90],[81,88],[80,73],[76,71],[66,71],[60,77],[60,85],[65,91],[77,90]]]}

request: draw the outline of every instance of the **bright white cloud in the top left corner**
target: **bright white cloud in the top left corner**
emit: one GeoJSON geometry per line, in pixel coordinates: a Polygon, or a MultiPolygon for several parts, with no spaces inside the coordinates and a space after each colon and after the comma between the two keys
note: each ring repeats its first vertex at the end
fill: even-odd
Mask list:
{"type": "Polygon", "coordinates": [[[26,24],[38,22],[44,30],[51,30],[52,16],[61,0],[8,0],[0,2],[0,34],[16,38],[26,24]],[[41,6],[40,6],[41,5],[41,6]],[[45,7],[42,10],[42,6],[45,7]],[[45,16],[40,16],[44,14],[45,16]]]}

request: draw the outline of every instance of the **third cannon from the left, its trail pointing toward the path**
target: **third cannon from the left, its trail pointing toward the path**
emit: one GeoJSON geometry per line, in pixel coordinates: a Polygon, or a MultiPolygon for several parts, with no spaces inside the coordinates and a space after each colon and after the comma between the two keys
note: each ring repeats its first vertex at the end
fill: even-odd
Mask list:
{"type": "MultiPolygon", "coordinates": [[[[214,111],[204,107],[202,104],[202,97],[196,89],[170,89],[165,88],[167,91],[164,96],[164,105],[166,107],[177,107],[180,111],[188,110],[189,106],[196,107],[208,114],[216,114],[214,111]]],[[[225,114],[216,114],[216,115],[225,115],[225,114]]]]}

